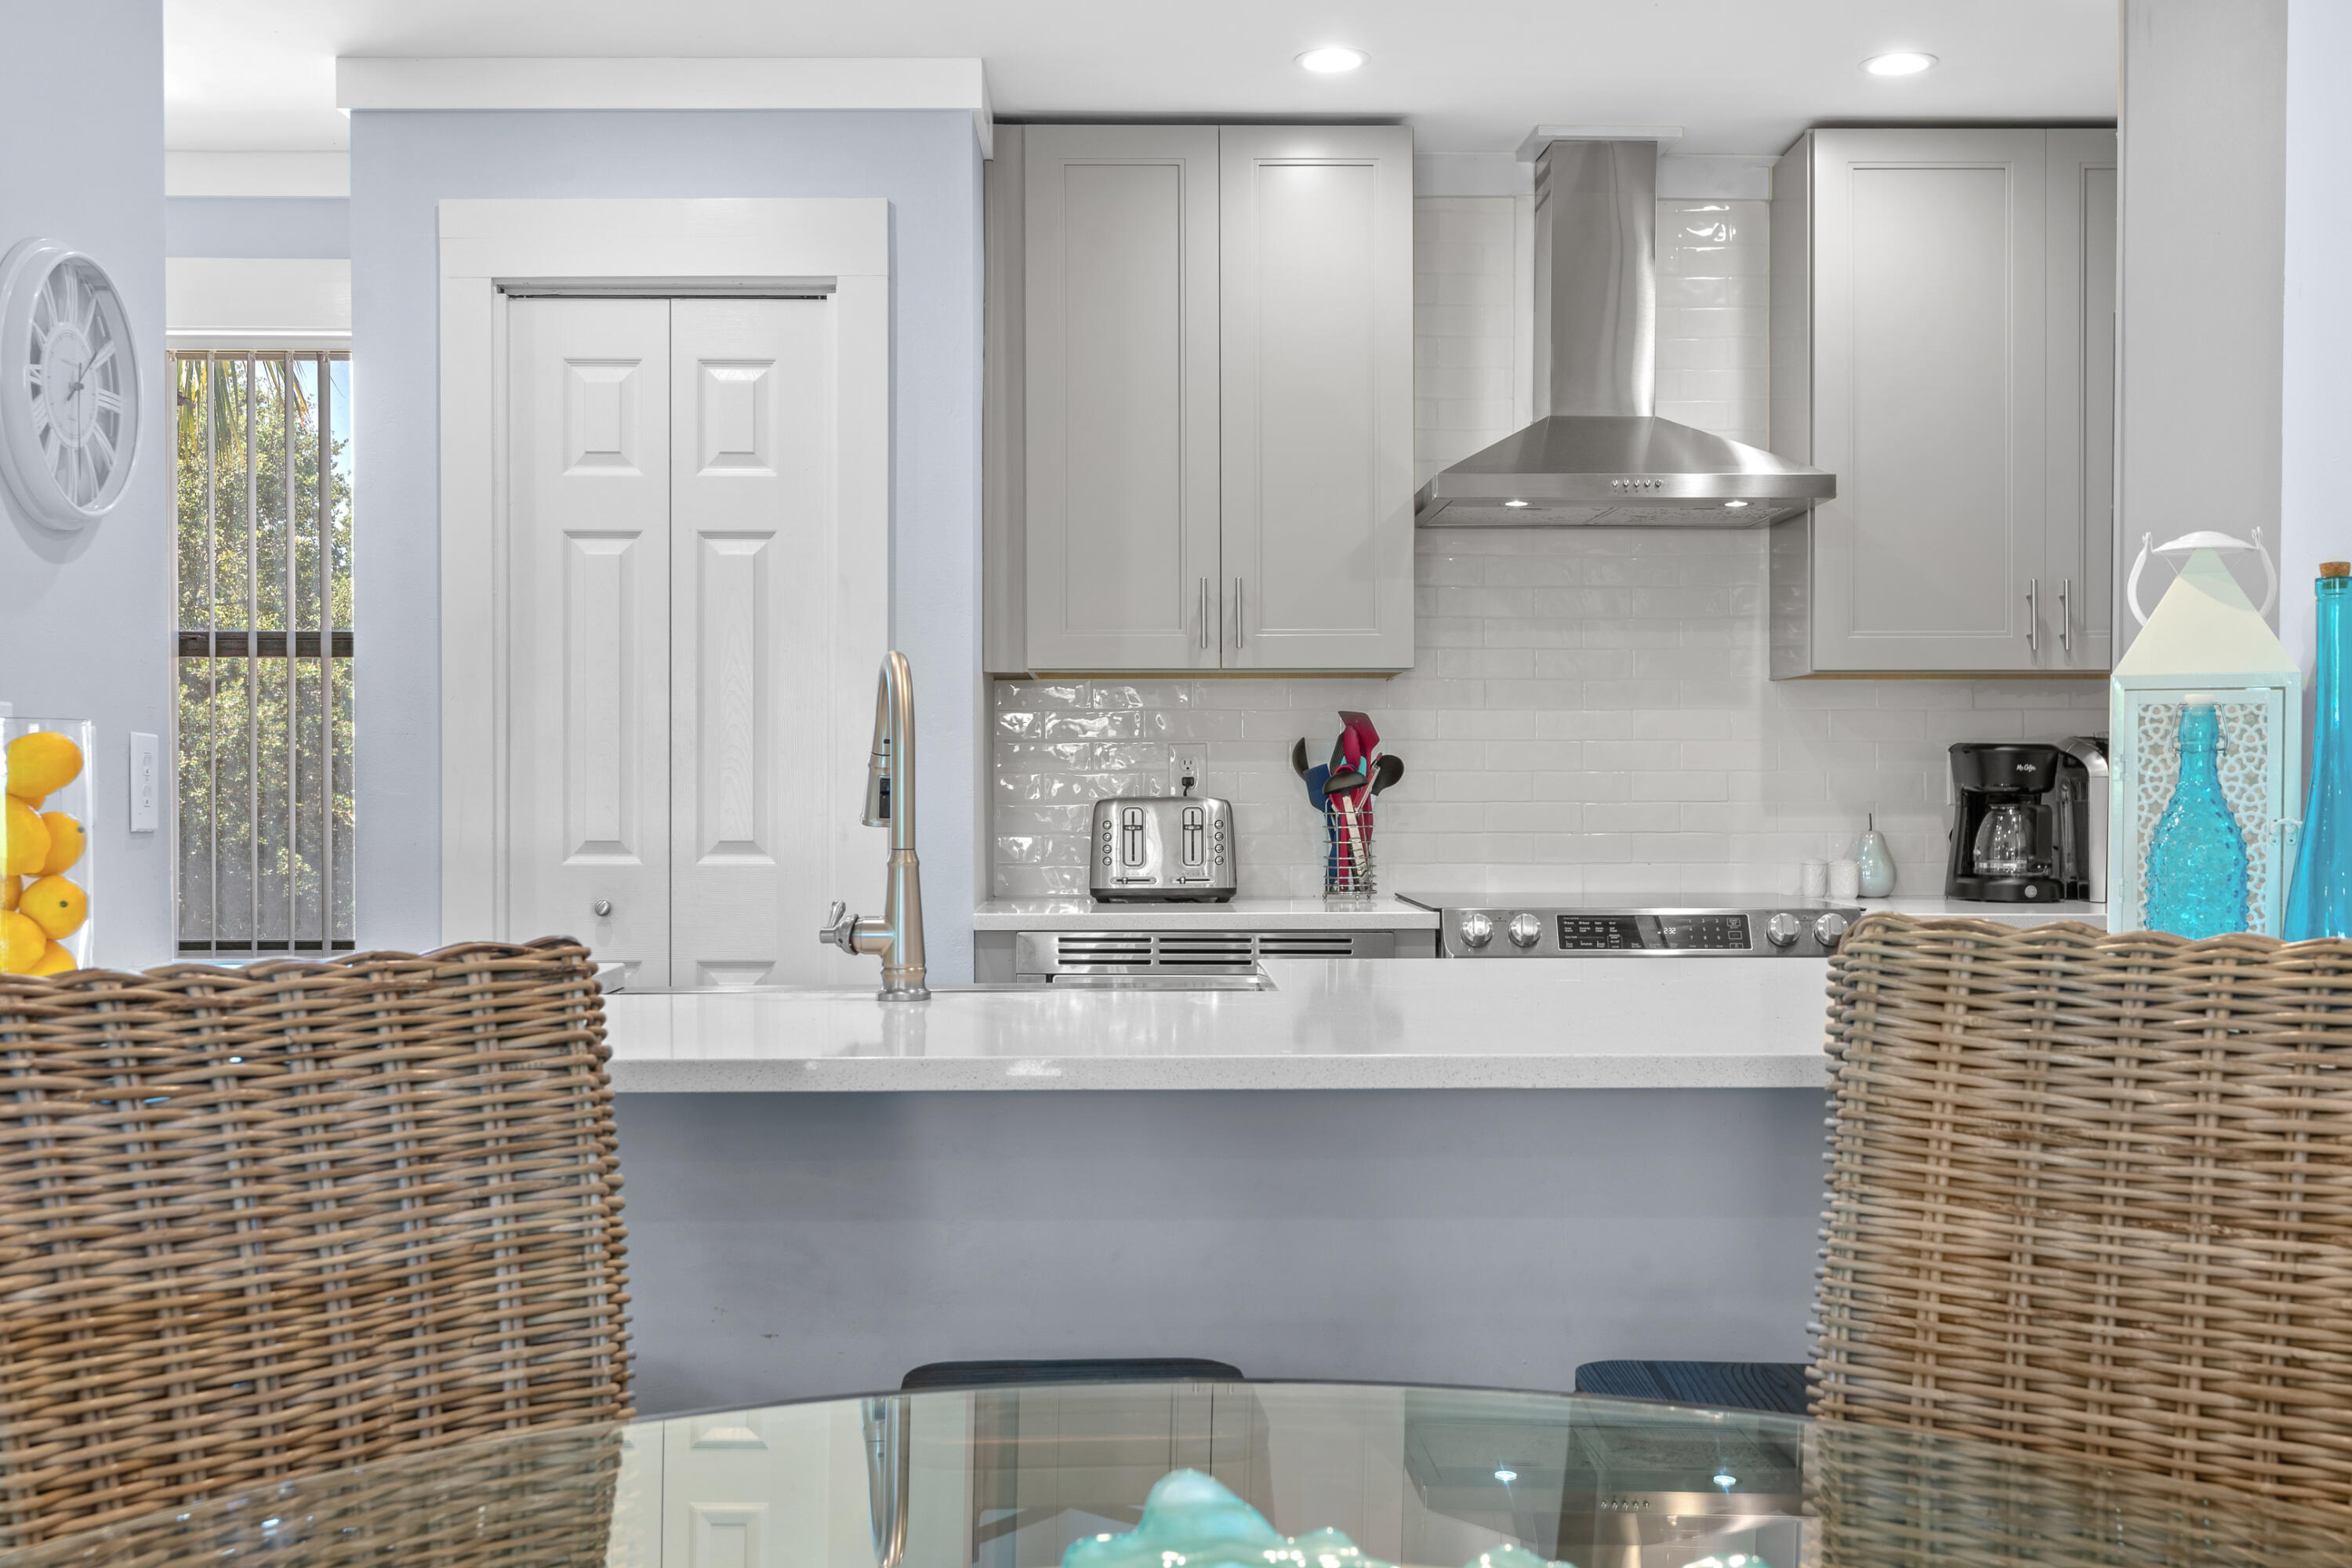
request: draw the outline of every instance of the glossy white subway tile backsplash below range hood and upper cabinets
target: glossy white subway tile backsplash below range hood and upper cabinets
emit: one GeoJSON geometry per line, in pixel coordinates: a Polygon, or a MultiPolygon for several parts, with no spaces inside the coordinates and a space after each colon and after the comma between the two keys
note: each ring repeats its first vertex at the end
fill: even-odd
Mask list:
{"type": "Polygon", "coordinates": [[[1091,799],[1169,792],[1169,745],[1204,741],[1200,788],[1237,802],[1242,891],[1312,896],[1322,823],[1289,750],[1329,755],[1338,708],[1406,759],[1378,809],[1388,886],[1780,893],[1875,813],[1900,886],[1929,891],[1952,741],[2105,722],[2098,679],[1764,679],[1757,531],[1482,529],[1418,548],[1423,602],[1456,597],[1423,611],[1421,663],[1395,679],[1000,682],[997,893],[1082,891],[1091,799]],[[1583,588],[1494,585],[1531,576],[1583,588]],[[1550,595],[1576,597],[1538,609],[1550,595]]]}

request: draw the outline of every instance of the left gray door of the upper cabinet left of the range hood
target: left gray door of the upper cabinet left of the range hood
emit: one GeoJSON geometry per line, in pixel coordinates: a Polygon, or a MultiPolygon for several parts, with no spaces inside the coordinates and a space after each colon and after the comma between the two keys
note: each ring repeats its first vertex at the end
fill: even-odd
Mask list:
{"type": "Polygon", "coordinates": [[[1033,670],[1216,668],[1216,132],[1033,125],[1033,670]]]}

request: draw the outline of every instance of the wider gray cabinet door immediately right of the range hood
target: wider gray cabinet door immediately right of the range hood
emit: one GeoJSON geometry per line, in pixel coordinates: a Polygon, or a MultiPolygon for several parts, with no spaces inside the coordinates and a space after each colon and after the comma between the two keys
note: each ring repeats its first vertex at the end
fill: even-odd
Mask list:
{"type": "Polygon", "coordinates": [[[1816,670],[2030,670],[2044,538],[2042,132],[1818,132],[1816,670]]]}

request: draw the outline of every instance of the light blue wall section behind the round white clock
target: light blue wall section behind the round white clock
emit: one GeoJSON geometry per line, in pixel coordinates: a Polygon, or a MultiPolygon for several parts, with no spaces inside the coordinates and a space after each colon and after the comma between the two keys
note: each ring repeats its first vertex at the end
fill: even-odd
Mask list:
{"type": "Polygon", "coordinates": [[[0,701],[96,719],[89,917],[96,961],[172,957],[172,839],[129,832],[127,736],[172,733],[172,393],[162,360],[162,0],[12,2],[0,12],[0,249],[89,252],[129,310],[146,440],[113,515],[73,536],[0,494],[0,701]],[[103,103],[92,99],[96,61],[103,103]]]}

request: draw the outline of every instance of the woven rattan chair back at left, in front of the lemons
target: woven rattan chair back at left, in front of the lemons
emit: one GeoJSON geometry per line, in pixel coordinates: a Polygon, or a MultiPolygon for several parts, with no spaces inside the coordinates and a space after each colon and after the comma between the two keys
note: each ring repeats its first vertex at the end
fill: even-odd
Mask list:
{"type": "Polygon", "coordinates": [[[0,980],[0,1544],[628,1415],[588,952],[0,980]]]}

